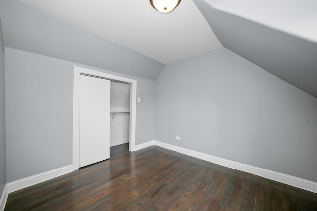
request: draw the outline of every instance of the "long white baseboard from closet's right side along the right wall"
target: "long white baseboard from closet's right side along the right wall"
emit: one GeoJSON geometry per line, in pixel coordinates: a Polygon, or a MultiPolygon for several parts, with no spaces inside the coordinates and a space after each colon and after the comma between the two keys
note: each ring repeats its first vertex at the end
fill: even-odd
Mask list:
{"type": "Polygon", "coordinates": [[[231,169],[236,169],[236,170],[241,170],[244,172],[252,173],[252,174],[267,178],[267,179],[271,179],[271,180],[281,182],[281,183],[284,183],[287,185],[291,185],[291,186],[294,186],[297,188],[308,190],[308,191],[313,192],[313,193],[317,193],[317,183],[316,182],[312,182],[312,181],[309,181],[306,179],[298,178],[295,176],[290,176],[290,175],[279,173],[279,172],[272,171],[272,170],[262,169],[259,167],[254,167],[254,166],[242,164],[242,163],[235,162],[235,161],[230,161],[227,159],[219,158],[216,156],[208,155],[208,154],[197,152],[194,150],[189,150],[189,149],[174,146],[171,144],[166,144],[166,143],[156,141],[156,140],[149,141],[149,142],[146,142],[143,144],[139,144],[138,149],[136,149],[136,150],[151,146],[151,144],[163,147],[165,149],[173,150],[175,152],[179,152],[179,153],[182,153],[185,155],[189,155],[189,156],[192,156],[195,158],[199,158],[199,159],[202,159],[204,161],[209,161],[211,163],[215,163],[215,164],[219,164],[221,166],[229,167],[231,169]]]}

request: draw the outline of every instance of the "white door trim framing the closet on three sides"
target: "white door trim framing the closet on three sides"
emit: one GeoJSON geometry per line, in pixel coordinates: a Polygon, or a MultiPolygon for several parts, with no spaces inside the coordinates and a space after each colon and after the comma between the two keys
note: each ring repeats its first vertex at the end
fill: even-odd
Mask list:
{"type": "Polygon", "coordinates": [[[79,169],[79,78],[80,74],[87,74],[106,78],[112,81],[130,84],[130,134],[129,150],[135,150],[135,128],[136,128],[136,96],[137,81],[121,76],[111,75],[99,71],[89,70],[74,66],[74,95],[73,95],[73,170],[79,169]]]}

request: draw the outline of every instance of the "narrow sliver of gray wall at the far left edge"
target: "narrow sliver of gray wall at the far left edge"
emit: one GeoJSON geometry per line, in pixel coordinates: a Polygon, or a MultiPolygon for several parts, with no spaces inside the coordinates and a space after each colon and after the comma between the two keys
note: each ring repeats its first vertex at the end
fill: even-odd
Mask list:
{"type": "MultiPolygon", "coordinates": [[[[5,167],[5,102],[4,102],[4,42],[0,18],[0,194],[6,183],[5,167]]],[[[0,197],[1,198],[1,197],[0,197]]]]}

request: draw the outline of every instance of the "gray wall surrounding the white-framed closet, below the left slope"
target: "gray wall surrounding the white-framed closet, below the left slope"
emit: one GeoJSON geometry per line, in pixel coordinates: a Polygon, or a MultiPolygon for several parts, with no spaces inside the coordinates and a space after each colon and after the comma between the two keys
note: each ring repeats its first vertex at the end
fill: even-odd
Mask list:
{"type": "Polygon", "coordinates": [[[5,50],[7,182],[72,163],[74,65],[136,79],[147,96],[137,104],[136,144],[154,139],[154,81],[5,50]]]}

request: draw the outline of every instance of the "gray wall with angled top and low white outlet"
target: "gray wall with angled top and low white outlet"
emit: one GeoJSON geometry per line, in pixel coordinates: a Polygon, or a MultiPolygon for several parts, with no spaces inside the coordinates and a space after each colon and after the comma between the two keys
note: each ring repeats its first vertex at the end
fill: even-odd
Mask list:
{"type": "Polygon", "coordinates": [[[226,48],[166,65],[155,87],[155,140],[317,182],[311,95],[226,48]]]}

